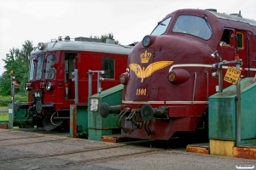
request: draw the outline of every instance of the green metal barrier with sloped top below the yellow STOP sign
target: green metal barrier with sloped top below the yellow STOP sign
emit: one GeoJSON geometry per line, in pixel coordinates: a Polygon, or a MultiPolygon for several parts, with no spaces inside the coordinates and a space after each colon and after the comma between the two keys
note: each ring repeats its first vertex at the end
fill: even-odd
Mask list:
{"type": "MultiPolygon", "coordinates": [[[[236,141],[236,86],[209,98],[209,139],[256,143],[256,83],[253,78],[241,80],[241,141],[236,141]]],[[[238,125],[239,126],[239,125],[238,125]]]]}

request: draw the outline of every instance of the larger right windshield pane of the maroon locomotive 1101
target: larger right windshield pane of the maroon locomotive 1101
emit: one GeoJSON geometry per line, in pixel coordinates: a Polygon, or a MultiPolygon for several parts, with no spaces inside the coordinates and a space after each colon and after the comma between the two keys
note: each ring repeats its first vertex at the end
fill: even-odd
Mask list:
{"type": "Polygon", "coordinates": [[[212,27],[207,20],[193,15],[180,15],[172,31],[190,34],[205,40],[208,40],[212,36],[212,27]]]}

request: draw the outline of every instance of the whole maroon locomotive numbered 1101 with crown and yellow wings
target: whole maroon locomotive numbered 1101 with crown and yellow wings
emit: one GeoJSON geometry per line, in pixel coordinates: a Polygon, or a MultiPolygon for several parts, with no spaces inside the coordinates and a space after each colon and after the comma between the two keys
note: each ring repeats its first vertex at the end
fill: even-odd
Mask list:
{"type": "Polygon", "coordinates": [[[180,9],[166,15],[128,57],[119,77],[125,85],[122,104],[102,103],[101,116],[118,112],[116,123],[130,138],[168,140],[197,129],[207,133],[208,97],[220,88],[212,64],[239,57],[241,78],[254,77],[255,34],[256,21],[241,13],[180,9]]]}

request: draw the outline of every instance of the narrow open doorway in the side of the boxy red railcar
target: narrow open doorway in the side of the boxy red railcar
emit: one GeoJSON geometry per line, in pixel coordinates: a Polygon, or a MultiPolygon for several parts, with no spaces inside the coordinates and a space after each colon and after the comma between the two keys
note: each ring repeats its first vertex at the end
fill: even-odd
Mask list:
{"type": "Polygon", "coordinates": [[[75,53],[65,53],[65,99],[75,98],[74,89],[74,69],[76,68],[76,56],[75,53]]]}

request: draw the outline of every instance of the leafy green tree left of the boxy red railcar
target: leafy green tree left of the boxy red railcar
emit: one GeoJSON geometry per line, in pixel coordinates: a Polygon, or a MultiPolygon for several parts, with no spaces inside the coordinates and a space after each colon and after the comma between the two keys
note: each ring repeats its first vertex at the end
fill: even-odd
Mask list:
{"type": "MultiPolygon", "coordinates": [[[[11,48],[9,54],[6,54],[3,77],[0,79],[0,95],[10,95],[10,71],[14,71],[15,77],[20,77],[23,82],[28,80],[29,71],[29,55],[32,52],[32,42],[26,41],[21,50],[19,48],[11,48]]],[[[16,89],[23,94],[26,91],[23,88],[16,89]]]]}

